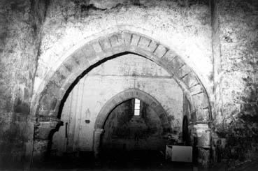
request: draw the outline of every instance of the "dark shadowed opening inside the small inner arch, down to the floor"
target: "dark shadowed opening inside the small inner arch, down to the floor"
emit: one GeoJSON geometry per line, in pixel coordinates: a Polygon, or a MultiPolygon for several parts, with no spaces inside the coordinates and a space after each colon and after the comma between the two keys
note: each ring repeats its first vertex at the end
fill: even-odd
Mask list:
{"type": "Polygon", "coordinates": [[[134,114],[134,99],[124,101],[108,115],[101,141],[101,158],[113,161],[162,160],[165,141],[157,113],[141,101],[140,114],[134,114]],[[121,158],[122,157],[122,158],[121,158]],[[157,158],[158,157],[158,158],[157,158]]]}

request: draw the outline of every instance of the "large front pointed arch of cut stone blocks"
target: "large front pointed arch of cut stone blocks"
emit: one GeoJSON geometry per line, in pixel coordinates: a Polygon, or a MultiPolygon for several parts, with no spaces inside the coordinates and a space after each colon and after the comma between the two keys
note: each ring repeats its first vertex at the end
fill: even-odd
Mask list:
{"type": "MultiPolygon", "coordinates": [[[[203,130],[208,130],[206,125],[211,119],[209,98],[194,70],[187,66],[178,54],[162,43],[131,31],[117,31],[82,45],[67,57],[57,69],[50,70],[43,77],[41,91],[36,92],[31,103],[31,112],[37,118],[34,137],[36,140],[42,140],[42,146],[47,142],[50,130],[59,123],[57,114],[60,104],[71,84],[85,70],[124,52],[138,54],[150,59],[173,75],[191,103],[190,119],[195,126],[193,127],[197,130],[196,132],[201,133],[199,136],[207,134],[207,131],[203,130]],[[199,129],[201,131],[198,131],[199,129]]],[[[206,136],[208,137],[208,135],[206,136]]],[[[208,147],[208,141],[205,143],[199,145],[208,147]]]]}

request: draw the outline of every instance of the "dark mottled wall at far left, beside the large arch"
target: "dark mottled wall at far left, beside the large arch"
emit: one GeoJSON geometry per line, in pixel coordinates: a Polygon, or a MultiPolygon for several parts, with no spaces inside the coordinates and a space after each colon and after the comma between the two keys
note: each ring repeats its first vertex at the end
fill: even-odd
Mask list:
{"type": "Polygon", "coordinates": [[[0,167],[22,165],[32,138],[29,118],[43,1],[0,1],[0,167]]]}

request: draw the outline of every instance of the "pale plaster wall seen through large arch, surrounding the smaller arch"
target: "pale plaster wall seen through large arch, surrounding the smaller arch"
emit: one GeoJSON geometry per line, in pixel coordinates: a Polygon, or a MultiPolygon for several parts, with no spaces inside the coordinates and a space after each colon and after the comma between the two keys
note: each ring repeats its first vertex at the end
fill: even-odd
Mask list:
{"type": "Polygon", "coordinates": [[[64,123],[71,123],[68,139],[64,124],[53,137],[53,149],[92,151],[94,124],[101,107],[116,94],[130,88],[145,91],[162,104],[169,115],[174,136],[178,137],[182,132],[182,90],[157,64],[135,54],[126,54],[97,66],[76,84],[61,117],[64,123]],[[89,120],[89,124],[85,120],[89,120]]]}

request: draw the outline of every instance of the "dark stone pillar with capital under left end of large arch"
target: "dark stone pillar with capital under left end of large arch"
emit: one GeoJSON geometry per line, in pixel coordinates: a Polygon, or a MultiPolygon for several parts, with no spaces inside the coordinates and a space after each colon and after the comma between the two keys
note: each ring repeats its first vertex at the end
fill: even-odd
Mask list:
{"type": "Polygon", "coordinates": [[[32,163],[38,164],[45,161],[45,157],[50,145],[50,139],[52,132],[55,132],[59,119],[48,119],[48,121],[38,121],[34,128],[34,143],[32,163]]]}

